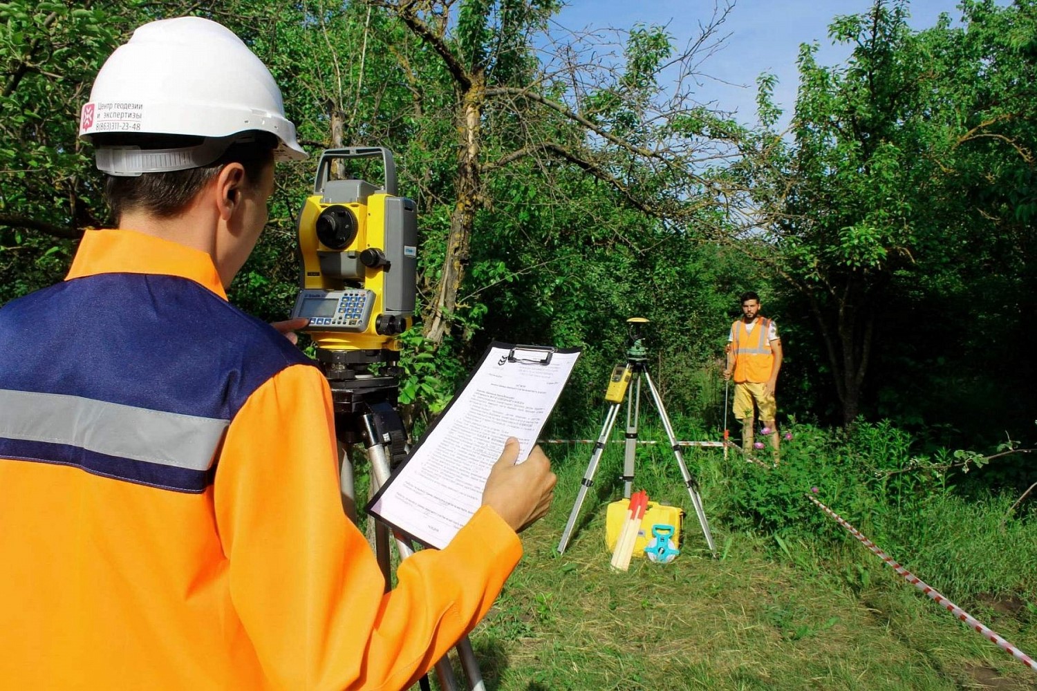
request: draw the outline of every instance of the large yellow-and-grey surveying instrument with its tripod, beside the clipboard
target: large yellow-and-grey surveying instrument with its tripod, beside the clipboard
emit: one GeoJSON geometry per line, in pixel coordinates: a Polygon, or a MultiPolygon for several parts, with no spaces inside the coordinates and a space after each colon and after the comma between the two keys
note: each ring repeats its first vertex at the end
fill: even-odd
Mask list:
{"type": "MultiPolygon", "coordinates": [[[[291,317],[306,317],[301,329],[316,346],[316,361],[331,387],[335,435],[343,445],[342,506],[357,521],[351,452],[363,443],[372,493],[407,456],[407,433],[397,411],[399,335],[414,316],[417,293],[417,206],[396,196],[396,168],[383,147],[325,151],[313,194],[299,214],[300,293],[291,317]],[[380,157],[384,185],[358,178],[332,179],[333,165],[380,157]]],[[[391,582],[389,528],[374,523],[375,554],[391,582]]],[[[396,537],[400,558],[413,553],[396,537]]],[[[485,689],[468,638],[456,646],[469,688],[485,689]]],[[[440,687],[457,689],[450,661],[436,664],[440,687]]],[[[423,680],[423,687],[427,681],[423,680]]]]}

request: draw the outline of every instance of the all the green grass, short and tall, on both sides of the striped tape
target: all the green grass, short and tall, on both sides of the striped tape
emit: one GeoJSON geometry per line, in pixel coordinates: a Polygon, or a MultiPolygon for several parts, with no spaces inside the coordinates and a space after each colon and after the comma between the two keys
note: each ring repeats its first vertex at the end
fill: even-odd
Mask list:
{"type": "MultiPolygon", "coordinates": [[[[847,470],[854,459],[869,462],[866,450],[833,453],[819,436],[805,436],[805,447],[831,460],[816,464],[838,488],[822,500],[837,512],[845,501],[879,547],[1026,653],[1037,652],[1033,521],[1002,521],[1007,497],[966,502],[946,491],[924,501],[901,497],[909,515],[896,513],[895,501],[872,501],[868,511],[875,483],[862,486],[847,470]]],[[[772,471],[785,474],[735,454],[725,461],[720,450],[685,456],[719,558],[706,548],[672,451],[639,448],[635,488],[688,515],[675,562],[635,559],[626,573],[610,571],[605,546],[606,505],[622,494],[622,444],[602,455],[561,556],[556,548],[591,448],[549,454],[559,476],[555,503],[524,535],[523,562],[471,636],[491,691],[1037,689],[1037,673],[793,497],[797,483],[811,482],[811,466],[793,463],[808,454],[792,442],[783,451],[789,465],[772,471]],[[754,511],[750,482],[784,483],[787,496],[776,489],[764,495],[775,499],[770,513],[754,511]],[[794,507],[787,524],[780,525],[779,505],[794,507]]]]}

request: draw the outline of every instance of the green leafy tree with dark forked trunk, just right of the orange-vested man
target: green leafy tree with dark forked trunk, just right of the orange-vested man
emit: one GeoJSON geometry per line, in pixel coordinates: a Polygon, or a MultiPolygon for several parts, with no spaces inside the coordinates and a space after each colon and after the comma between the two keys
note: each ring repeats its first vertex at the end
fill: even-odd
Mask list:
{"type": "Polygon", "coordinates": [[[879,0],[837,18],[830,35],[854,47],[845,66],[818,65],[816,45],[802,48],[794,144],[775,145],[782,181],[760,188],[777,211],[776,268],[813,317],[847,425],[894,284],[942,232],[929,213],[941,192],[928,95],[938,76],[906,17],[905,2],[879,0]]]}

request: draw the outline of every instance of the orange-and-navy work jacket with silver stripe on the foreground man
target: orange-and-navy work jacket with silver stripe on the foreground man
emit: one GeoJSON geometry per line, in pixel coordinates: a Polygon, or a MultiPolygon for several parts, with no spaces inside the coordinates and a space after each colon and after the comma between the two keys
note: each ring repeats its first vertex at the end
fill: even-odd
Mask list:
{"type": "Polygon", "coordinates": [[[482,508],[384,578],[331,394],[205,253],[88,231],[0,309],[0,687],[399,689],[517,563],[482,508]]]}

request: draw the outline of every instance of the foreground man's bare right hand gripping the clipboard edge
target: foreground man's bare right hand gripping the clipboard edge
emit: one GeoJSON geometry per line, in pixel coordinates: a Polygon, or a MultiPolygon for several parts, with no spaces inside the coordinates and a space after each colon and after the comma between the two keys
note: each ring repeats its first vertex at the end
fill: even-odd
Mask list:
{"type": "Polygon", "coordinates": [[[548,513],[558,479],[540,447],[534,447],[529,458],[516,465],[517,460],[518,440],[508,437],[504,453],[486,478],[482,506],[496,511],[515,532],[521,532],[548,513]]]}

